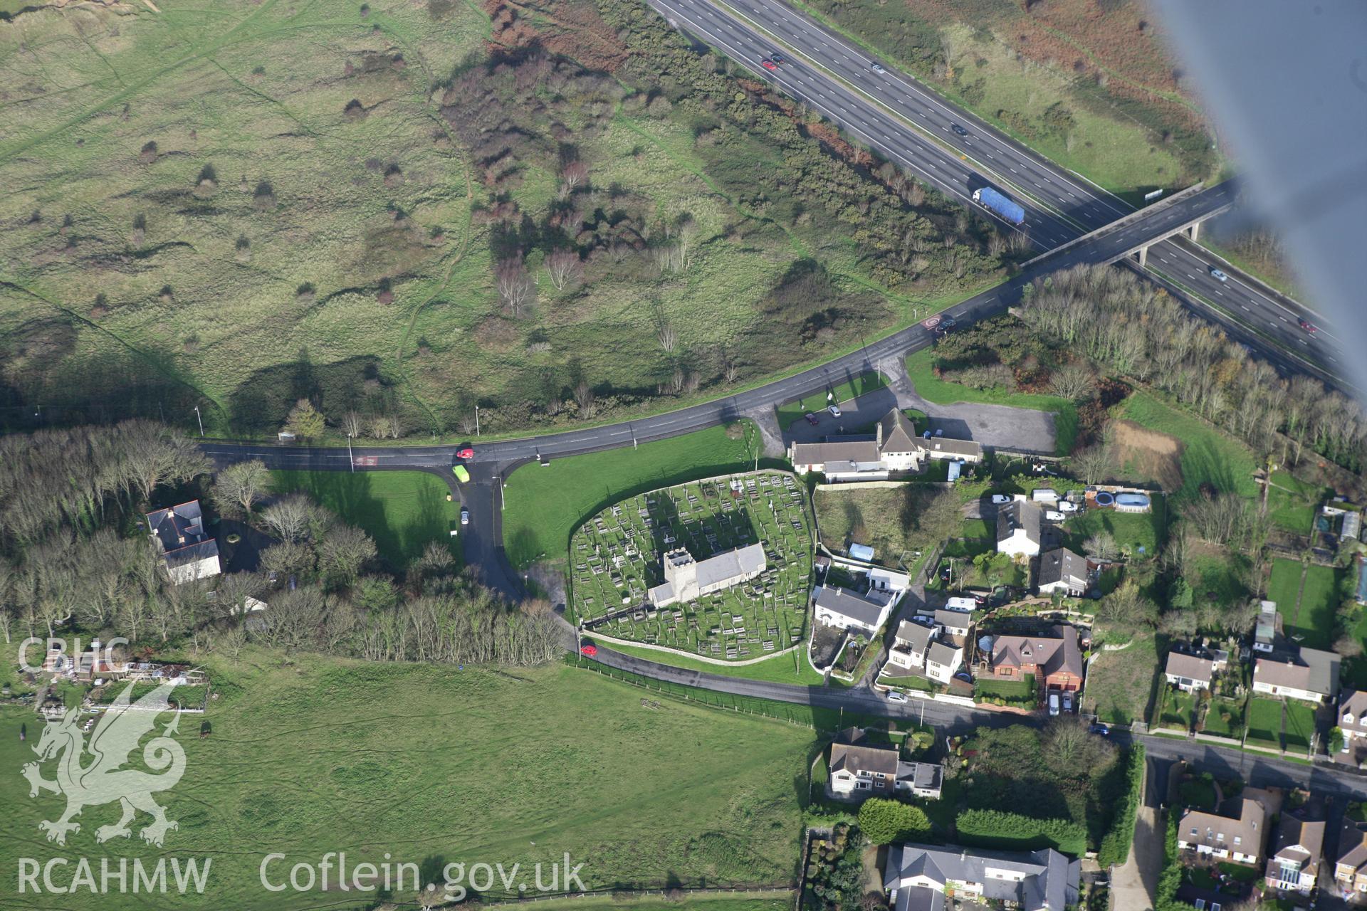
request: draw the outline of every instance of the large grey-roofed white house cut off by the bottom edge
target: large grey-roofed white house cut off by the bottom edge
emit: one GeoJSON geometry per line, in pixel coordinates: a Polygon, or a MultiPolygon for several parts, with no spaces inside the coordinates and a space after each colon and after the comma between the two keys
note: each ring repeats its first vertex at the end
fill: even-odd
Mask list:
{"type": "Polygon", "coordinates": [[[893,911],[943,911],[946,893],[1021,911],[1064,911],[1077,904],[1080,878],[1081,862],[1053,848],[894,844],[887,850],[883,889],[893,911]]]}

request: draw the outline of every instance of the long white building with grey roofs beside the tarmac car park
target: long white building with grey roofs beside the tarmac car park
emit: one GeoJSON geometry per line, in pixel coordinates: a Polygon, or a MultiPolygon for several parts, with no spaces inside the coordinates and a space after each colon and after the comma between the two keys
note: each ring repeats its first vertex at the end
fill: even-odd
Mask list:
{"type": "Polygon", "coordinates": [[[910,418],[893,408],[872,437],[827,437],[824,443],[794,443],[787,449],[793,470],[816,471],[828,481],[876,481],[890,474],[920,471],[932,459],[977,463],[983,447],[972,440],[917,437],[910,418]]]}

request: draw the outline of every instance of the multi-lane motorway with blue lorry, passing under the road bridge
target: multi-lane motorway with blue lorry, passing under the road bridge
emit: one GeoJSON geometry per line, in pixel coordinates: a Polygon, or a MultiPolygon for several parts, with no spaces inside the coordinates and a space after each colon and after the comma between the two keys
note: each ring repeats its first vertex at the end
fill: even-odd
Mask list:
{"type": "MultiPolygon", "coordinates": [[[[950,198],[973,205],[972,191],[982,186],[1007,191],[1025,208],[1024,229],[1039,250],[1054,249],[1132,212],[1122,199],[1043,158],[915,79],[894,68],[875,72],[863,48],[782,0],[648,1],[675,27],[811,105],[950,198]],[[776,71],[764,70],[760,60],[774,52],[782,52],[787,63],[776,71]],[[966,135],[957,134],[956,126],[966,135]]],[[[977,210],[987,214],[982,208],[977,210]]],[[[1016,229],[1005,221],[997,223],[1016,229]]],[[[1338,373],[1334,335],[1322,317],[1303,305],[1240,275],[1187,240],[1172,239],[1151,247],[1148,266],[1203,317],[1243,324],[1240,341],[1269,361],[1290,363],[1297,372],[1342,385],[1333,376],[1338,373]],[[1217,280],[1213,268],[1226,272],[1229,281],[1217,280]],[[1214,318],[1215,314],[1225,318],[1214,318]],[[1301,320],[1318,326],[1318,332],[1303,331],[1301,320]],[[1321,369],[1273,356],[1278,346],[1321,369]]]]}

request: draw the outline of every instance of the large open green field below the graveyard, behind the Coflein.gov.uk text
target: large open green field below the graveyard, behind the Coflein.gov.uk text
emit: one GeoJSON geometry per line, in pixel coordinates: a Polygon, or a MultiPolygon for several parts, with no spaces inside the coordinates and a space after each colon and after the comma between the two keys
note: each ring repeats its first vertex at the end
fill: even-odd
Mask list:
{"type": "MultiPolygon", "coordinates": [[[[424,869],[440,869],[439,858],[530,869],[569,852],[584,862],[588,888],[791,882],[801,832],[794,783],[805,794],[809,728],[673,699],[642,706],[641,690],[565,665],[458,671],[247,651],[211,672],[221,697],[208,714],[213,735],[201,739],[198,721],[182,718],[186,772],[159,795],[179,822],[165,851],[212,858],[209,891],[174,904],[63,896],[60,907],[273,911],[336,901],[265,893],[257,869],[268,852],[291,863],[327,851],[380,862],[390,852],[424,869]],[[720,785],[718,768],[727,769],[720,785]]],[[[38,821],[55,818],[62,800],[29,799],[18,774],[34,738],[31,712],[0,710],[0,765],[15,770],[0,779],[8,895],[18,856],[96,865],[104,855],[164,856],[137,835],[97,845],[94,829],[118,819],[113,806],[87,807],[64,848],[44,841],[38,821]],[[22,723],[29,743],[19,742],[22,723]]]]}

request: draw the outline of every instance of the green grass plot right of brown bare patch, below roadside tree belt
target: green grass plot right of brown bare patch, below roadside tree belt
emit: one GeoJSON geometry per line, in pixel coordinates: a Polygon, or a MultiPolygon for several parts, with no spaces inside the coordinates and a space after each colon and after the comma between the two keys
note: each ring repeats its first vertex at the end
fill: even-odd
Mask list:
{"type": "Polygon", "coordinates": [[[1199,496],[1203,483],[1245,497],[1258,494],[1252,478],[1256,468],[1252,451],[1191,412],[1176,408],[1150,392],[1136,392],[1117,408],[1115,417],[1181,441],[1182,488],[1177,494],[1180,499],[1189,500],[1199,496]]]}

